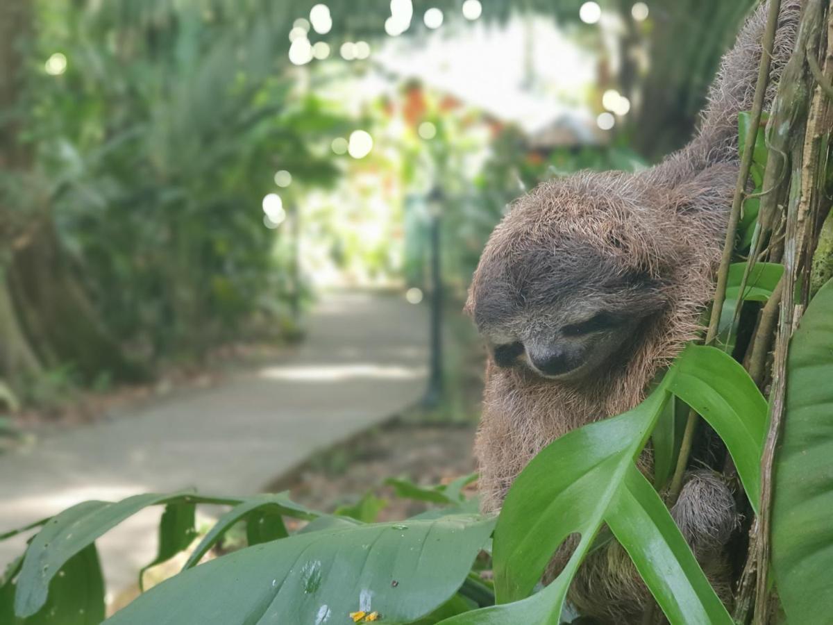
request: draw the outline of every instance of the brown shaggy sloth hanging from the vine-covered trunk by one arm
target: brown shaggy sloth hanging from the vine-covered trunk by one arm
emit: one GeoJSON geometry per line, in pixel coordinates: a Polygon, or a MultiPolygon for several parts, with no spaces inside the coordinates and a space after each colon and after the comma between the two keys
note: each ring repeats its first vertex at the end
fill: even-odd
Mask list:
{"type": "MultiPolygon", "coordinates": [[[[800,0],[782,0],[766,101],[795,42],[800,0]]],[[[554,439],[624,413],[701,332],[739,170],[737,117],[752,106],[766,5],[747,20],[712,84],[696,137],[641,173],[576,173],[513,204],[476,268],[466,312],[489,353],[475,454],[481,507],[496,512],[554,439]]],[[[650,450],[640,465],[650,471],[650,450]]],[[[691,471],[671,514],[727,597],[731,489],[691,471]]],[[[573,547],[551,562],[552,578],[573,547]]],[[[547,576],[545,576],[547,577],[547,576]]],[[[570,599],[604,622],[639,622],[650,594],[624,550],[596,550],[570,599]]]]}

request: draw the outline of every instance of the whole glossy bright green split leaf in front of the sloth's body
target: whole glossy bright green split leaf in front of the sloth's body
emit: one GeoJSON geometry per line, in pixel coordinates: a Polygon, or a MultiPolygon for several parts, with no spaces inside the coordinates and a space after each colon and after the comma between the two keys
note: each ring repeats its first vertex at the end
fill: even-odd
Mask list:
{"type": "Polygon", "coordinates": [[[670,512],[634,465],[671,393],[706,415],[727,439],[749,491],[760,491],[766,401],[731,357],[689,346],[645,402],[566,434],[532,459],[510,489],[495,531],[499,605],[451,617],[444,625],[558,622],[567,588],[603,523],[671,622],[731,623],[670,512]],[[581,540],[564,571],[529,596],[551,554],[574,533],[581,540]]]}

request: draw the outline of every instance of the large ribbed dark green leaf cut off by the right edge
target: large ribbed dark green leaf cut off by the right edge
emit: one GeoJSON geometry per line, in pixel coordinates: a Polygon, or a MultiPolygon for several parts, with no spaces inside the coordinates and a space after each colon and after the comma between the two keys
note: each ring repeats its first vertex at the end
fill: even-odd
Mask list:
{"type": "Polygon", "coordinates": [[[792,623],[833,614],[833,282],[816,293],[790,344],[776,454],[772,566],[792,623]]]}

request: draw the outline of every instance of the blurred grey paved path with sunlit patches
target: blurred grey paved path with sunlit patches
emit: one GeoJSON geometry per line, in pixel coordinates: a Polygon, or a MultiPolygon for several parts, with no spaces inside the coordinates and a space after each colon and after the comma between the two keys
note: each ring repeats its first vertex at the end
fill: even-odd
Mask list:
{"type": "MultiPolygon", "coordinates": [[[[256,493],[318,448],[415,402],[426,311],[385,295],[333,294],[282,362],[0,455],[0,531],[86,499],[196,487],[256,493]]],[[[152,508],[98,541],[109,591],[153,559],[152,508]]],[[[0,567],[23,541],[0,542],[0,567]]],[[[0,569],[2,570],[2,569],[0,569]]]]}

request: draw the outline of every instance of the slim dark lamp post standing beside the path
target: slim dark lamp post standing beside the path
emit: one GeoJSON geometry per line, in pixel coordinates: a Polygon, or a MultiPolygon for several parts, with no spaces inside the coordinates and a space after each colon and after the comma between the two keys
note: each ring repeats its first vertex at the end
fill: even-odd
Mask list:
{"type": "Polygon", "coordinates": [[[428,388],[422,403],[434,407],[442,398],[442,275],[440,264],[440,224],[446,196],[439,186],[428,194],[428,214],[431,218],[431,353],[429,356],[428,388]]]}

